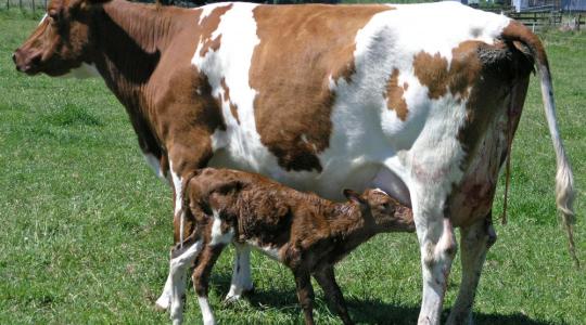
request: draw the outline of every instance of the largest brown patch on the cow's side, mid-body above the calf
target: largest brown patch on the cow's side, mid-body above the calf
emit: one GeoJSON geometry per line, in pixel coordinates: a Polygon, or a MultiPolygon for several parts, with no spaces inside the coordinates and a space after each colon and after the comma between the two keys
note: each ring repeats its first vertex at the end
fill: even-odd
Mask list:
{"type": "Polygon", "coordinates": [[[334,82],[352,82],[356,34],[385,5],[260,5],[250,84],[260,142],[288,171],[316,170],[329,146],[334,82]],[[276,28],[276,26],[279,26],[276,28]]]}

